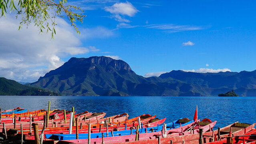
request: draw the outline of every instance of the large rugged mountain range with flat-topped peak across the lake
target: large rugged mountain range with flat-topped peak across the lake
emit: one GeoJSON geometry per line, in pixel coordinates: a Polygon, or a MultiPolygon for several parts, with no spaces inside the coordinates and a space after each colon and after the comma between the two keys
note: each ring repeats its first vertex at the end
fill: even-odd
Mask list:
{"type": "Polygon", "coordinates": [[[218,96],[234,90],[256,96],[256,71],[195,73],[173,70],[145,78],[123,60],[71,58],[30,86],[72,96],[218,96]]]}

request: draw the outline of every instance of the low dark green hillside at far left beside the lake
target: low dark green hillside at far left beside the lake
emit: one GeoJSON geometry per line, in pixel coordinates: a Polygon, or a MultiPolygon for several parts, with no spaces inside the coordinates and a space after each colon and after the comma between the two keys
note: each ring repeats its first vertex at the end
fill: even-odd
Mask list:
{"type": "Polygon", "coordinates": [[[32,86],[19,84],[14,80],[0,78],[0,96],[17,95],[17,96],[58,96],[60,94],[51,90],[44,90],[32,86]]]}

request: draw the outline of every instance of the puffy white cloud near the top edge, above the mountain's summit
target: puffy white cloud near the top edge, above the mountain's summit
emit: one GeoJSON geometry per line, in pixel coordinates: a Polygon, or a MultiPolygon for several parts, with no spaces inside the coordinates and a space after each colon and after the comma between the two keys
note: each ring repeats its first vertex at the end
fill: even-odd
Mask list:
{"type": "Polygon", "coordinates": [[[106,6],[105,11],[110,12],[112,16],[118,22],[130,22],[130,20],[125,19],[125,16],[133,17],[139,10],[137,10],[130,2],[117,2],[113,6],[106,6]]]}

